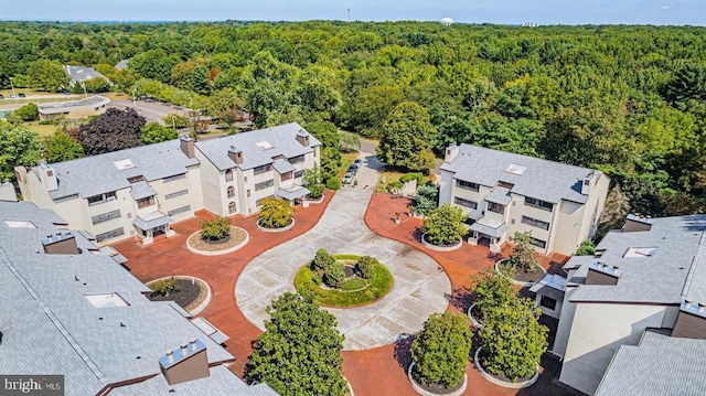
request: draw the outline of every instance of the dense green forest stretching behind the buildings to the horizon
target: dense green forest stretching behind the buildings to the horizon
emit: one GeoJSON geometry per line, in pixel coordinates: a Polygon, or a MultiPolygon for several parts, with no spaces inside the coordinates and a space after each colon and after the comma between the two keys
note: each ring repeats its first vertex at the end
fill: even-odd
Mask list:
{"type": "Polygon", "coordinates": [[[61,89],[65,64],[213,116],[243,109],[256,127],[382,138],[391,117],[414,117],[436,156],[468,142],[600,169],[622,212],[706,202],[704,28],[0,23],[0,88],[61,89]]]}

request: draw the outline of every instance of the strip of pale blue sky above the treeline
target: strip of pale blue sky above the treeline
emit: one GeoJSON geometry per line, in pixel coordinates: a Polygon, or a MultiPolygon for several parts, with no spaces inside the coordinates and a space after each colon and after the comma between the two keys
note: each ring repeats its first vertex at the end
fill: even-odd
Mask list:
{"type": "Polygon", "coordinates": [[[706,24],[706,0],[0,0],[1,20],[706,24]]]}

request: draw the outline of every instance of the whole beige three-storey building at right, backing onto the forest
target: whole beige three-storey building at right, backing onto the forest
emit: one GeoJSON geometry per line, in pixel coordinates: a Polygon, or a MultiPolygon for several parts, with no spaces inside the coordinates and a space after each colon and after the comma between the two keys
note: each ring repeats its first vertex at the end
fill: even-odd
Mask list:
{"type": "Polygon", "coordinates": [[[537,251],[570,255],[592,238],[610,179],[598,170],[452,145],[441,165],[439,204],[463,208],[469,243],[500,245],[532,232],[537,251]]]}

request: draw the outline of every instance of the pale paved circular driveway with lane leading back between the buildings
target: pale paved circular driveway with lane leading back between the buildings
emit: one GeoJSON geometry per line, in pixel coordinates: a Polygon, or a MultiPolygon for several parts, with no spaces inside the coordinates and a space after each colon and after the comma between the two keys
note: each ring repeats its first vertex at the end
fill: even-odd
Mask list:
{"type": "Polygon", "coordinates": [[[370,156],[359,171],[359,186],[343,188],[331,200],[317,225],[303,235],[271,248],[250,261],[235,285],[235,300],[245,318],[260,330],[271,300],[295,291],[297,270],[323,247],[329,253],[350,253],[377,258],[393,274],[391,292],[370,306],[327,310],[345,334],[343,347],[367,350],[394,343],[400,335],[421,329],[428,315],[443,312],[451,297],[451,282],[428,255],[373,233],[363,221],[379,168],[370,156]]]}

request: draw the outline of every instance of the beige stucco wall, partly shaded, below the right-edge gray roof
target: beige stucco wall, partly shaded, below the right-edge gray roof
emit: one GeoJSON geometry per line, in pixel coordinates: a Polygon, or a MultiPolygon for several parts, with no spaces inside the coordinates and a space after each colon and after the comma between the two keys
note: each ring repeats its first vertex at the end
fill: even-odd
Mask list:
{"type": "Polygon", "coordinates": [[[677,308],[577,303],[559,381],[592,395],[618,347],[637,345],[646,328],[662,327],[665,317],[672,314],[667,311],[674,309],[677,308]]]}

